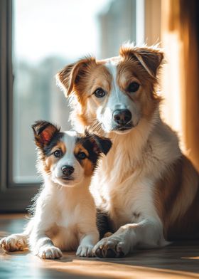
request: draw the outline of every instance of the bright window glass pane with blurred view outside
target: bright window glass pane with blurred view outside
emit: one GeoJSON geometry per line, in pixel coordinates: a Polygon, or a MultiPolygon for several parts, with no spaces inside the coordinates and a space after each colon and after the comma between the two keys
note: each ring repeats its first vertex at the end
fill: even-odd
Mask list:
{"type": "Polygon", "coordinates": [[[68,102],[55,73],[87,54],[116,56],[134,41],[133,0],[14,0],[13,180],[36,182],[31,125],[49,120],[70,129],[68,102]]]}

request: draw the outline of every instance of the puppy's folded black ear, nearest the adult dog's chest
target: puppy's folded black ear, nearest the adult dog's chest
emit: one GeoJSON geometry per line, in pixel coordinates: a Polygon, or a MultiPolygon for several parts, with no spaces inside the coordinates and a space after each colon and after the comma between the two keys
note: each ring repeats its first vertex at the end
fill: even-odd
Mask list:
{"type": "Polygon", "coordinates": [[[112,142],[110,139],[107,139],[107,137],[99,137],[97,135],[92,135],[91,142],[94,146],[94,152],[96,153],[104,153],[107,155],[109,152],[109,149],[112,147],[112,142]]]}

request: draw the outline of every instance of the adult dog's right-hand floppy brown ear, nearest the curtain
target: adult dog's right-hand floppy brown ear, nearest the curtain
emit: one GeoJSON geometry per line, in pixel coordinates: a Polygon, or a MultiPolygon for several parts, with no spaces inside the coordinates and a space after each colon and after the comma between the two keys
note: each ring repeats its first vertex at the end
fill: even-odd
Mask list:
{"type": "Polygon", "coordinates": [[[158,67],[163,60],[163,52],[156,46],[139,48],[131,45],[124,45],[120,48],[119,54],[124,58],[127,57],[138,60],[152,77],[156,77],[158,67]]]}

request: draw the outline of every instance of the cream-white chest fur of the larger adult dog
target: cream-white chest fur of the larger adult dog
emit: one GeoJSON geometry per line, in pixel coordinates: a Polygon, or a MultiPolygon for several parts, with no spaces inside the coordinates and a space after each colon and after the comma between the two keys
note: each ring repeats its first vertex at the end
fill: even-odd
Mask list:
{"type": "Polygon", "coordinates": [[[154,205],[154,184],[164,165],[173,157],[178,157],[175,146],[168,156],[167,149],[171,149],[172,138],[166,146],[158,135],[153,136],[141,151],[139,144],[143,142],[144,135],[135,133],[134,137],[128,137],[124,135],[122,143],[114,139],[111,151],[103,157],[92,179],[92,193],[97,207],[109,213],[114,230],[148,216],[161,223],[154,205]]]}

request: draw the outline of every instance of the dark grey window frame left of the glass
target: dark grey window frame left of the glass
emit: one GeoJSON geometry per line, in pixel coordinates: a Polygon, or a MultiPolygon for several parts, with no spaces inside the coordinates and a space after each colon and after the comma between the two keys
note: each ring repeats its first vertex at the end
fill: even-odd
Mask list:
{"type": "Polygon", "coordinates": [[[12,1],[0,1],[0,212],[24,212],[40,184],[16,184],[13,162],[12,1]]]}

